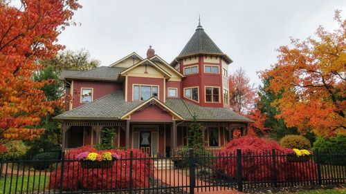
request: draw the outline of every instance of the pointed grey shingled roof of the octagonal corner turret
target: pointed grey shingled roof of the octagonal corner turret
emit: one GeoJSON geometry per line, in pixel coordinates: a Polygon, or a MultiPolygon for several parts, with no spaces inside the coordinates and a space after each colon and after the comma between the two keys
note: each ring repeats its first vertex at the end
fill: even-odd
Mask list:
{"type": "MultiPolygon", "coordinates": [[[[224,52],[221,51],[216,43],[214,43],[214,41],[210,39],[210,37],[202,28],[201,23],[199,23],[196,31],[194,32],[188,43],[186,43],[185,47],[183,48],[183,50],[181,50],[176,59],[197,55],[215,55],[223,57],[228,64],[233,62],[232,59],[224,54],[224,52]]],[[[173,63],[174,61],[172,62],[172,64],[173,63]]]]}

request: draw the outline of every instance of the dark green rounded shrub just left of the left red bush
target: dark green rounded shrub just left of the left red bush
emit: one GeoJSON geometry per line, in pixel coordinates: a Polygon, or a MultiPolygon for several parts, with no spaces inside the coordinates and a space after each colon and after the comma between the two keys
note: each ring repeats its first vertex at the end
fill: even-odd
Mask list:
{"type": "Polygon", "coordinates": [[[48,168],[49,165],[55,163],[52,160],[59,159],[59,157],[60,153],[58,152],[39,153],[33,157],[33,167],[36,170],[44,170],[48,168]]]}

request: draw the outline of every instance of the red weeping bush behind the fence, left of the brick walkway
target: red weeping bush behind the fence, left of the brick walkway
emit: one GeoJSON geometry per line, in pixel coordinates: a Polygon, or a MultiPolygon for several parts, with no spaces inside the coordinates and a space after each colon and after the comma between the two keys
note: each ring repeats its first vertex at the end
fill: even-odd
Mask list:
{"type": "MultiPolygon", "coordinates": [[[[64,177],[62,187],[64,191],[87,189],[87,190],[109,190],[115,188],[129,188],[129,172],[130,172],[130,151],[133,151],[134,160],[132,162],[132,186],[134,188],[143,188],[149,186],[149,177],[154,173],[154,165],[152,160],[138,150],[116,151],[120,156],[119,160],[114,162],[112,168],[95,168],[86,169],[80,166],[75,158],[79,153],[84,151],[98,152],[91,146],[80,147],[70,151],[66,155],[64,164],[64,177]],[[137,159],[136,159],[137,158],[137,159]],[[141,158],[141,159],[140,159],[141,158]]],[[[57,169],[57,173],[52,173],[49,188],[60,188],[61,166],[57,169]]]]}

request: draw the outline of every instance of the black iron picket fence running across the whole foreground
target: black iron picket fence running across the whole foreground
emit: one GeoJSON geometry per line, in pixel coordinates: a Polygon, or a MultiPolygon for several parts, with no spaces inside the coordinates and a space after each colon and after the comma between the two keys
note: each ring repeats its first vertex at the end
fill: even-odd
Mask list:
{"type": "Polygon", "coordinates": [[[0,162],[0,193],[195,193],[345,184],[346,155],[256,154],[146,157],[129,152],[113,162],[78,159],[0,162]]]}

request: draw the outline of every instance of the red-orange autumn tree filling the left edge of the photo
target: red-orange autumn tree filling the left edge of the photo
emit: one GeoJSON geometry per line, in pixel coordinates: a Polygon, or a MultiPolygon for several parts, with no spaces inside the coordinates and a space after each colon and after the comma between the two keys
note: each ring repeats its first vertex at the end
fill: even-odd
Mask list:
{"type": "Polygon", "coordinates": [[[0,0],[0,150],[15,139],[39,137],[33,126],[62,101],[49,101],[40,90],[50,81],[34,81],[41,66],[63,46],[57,36],[81,6],[75,0],[21,0],[19,6],[0,0]]]}

